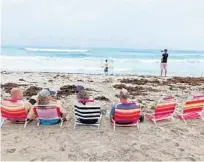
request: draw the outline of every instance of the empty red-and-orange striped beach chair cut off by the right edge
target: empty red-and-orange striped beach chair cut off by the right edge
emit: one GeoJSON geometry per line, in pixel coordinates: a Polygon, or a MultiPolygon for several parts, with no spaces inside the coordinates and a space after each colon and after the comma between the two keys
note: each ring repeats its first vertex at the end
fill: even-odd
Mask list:
{"type": "Polygon", "coordinates": [[[188,119],[204,119],[202,117],[202,111],[204,107],[204,96],[193,96],[192,99],[188,99],[185,102],[185,106],[182,112],[177,112],[177,117],[184,121],[188,119]]]}

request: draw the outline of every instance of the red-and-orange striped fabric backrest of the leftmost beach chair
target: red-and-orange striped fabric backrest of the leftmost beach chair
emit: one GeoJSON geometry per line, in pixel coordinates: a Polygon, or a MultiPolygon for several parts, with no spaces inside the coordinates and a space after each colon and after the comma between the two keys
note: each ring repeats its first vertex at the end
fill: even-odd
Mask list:
{"type": "Polygon", "coordinates": [[[1,105],[1,116],[7,120],[24,121],[27,118],[27,113],[23,106],[8,107],[1,105]]]}

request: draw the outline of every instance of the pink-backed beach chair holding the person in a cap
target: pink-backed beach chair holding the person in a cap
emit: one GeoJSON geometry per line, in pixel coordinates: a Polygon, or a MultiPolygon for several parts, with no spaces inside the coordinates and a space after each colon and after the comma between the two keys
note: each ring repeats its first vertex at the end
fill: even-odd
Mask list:
{"type": "Polygon", "coordinates": [[[33,108],[36,115],[37,126],[42,125],[55,125],[60,123],[60,127],[63,125],[63,119],[60,112],[60,108],[56,105],[37,105],[33,108]]]}

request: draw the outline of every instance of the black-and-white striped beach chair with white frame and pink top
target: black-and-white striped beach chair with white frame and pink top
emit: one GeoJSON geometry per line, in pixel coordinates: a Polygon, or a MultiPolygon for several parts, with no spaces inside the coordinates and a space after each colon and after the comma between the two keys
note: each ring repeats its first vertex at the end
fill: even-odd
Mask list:
{"type": "Polygon", "coordinates": [[[86,103],[83,104],[76,104],[75,107],[75,122],[74,122],[74,129],[76,129],[77,125],[86,125],[86,126],[97,126],[100,128],[101,123],[101,107],[97,106],[94,100],[79,100],[78,103],[86,103]],[[89,103],[89,104],[87,104],[89,103]],[[85,121],[85,122],[82,122],[85,121]],[[88,121],[95,120],[96,123],[88,124],[88,121]],[[87,123],[86,123],[87,122],[87,123]]]}

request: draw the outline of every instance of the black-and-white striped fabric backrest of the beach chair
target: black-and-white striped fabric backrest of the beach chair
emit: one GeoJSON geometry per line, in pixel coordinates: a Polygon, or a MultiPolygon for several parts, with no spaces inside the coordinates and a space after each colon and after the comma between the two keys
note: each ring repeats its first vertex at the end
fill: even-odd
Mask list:
{"type": "Polygon", "coordinates": [[[99,119],[101,116],[101,108],[96,105],[74,105],[75,117],[77,119],[99,119]]]}

